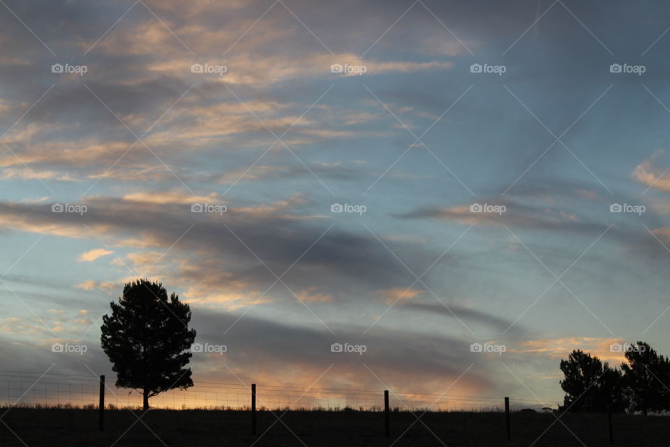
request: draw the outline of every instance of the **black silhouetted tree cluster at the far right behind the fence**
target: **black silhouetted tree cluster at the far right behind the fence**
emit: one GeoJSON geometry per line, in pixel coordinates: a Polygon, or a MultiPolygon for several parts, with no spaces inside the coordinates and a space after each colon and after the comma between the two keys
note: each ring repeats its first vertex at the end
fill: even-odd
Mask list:
{"type": "Polygon", "coordinates": [[[670,360],[645,342],[626,345],[620,369],[580,350],[560,361],[562,410],[644,414],[670,411],[670,360]]]}

